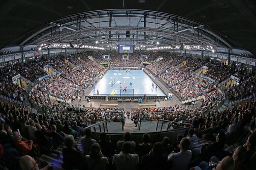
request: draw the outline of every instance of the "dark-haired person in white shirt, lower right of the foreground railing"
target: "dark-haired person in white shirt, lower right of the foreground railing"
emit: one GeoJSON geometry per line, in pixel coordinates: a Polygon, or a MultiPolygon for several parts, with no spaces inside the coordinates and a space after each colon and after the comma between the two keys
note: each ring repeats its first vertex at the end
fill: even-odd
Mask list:
{"type": "Polygon", "coordinates": [[[190,141],[187,138],[182,138],[180,141],[179,147],[180,152],[178,153],[171,153],[168,156],[168,162],[172,164],[172,170],[186,170],[187,164],[189,163],[192,152],[188,150],[190,146],[190,141]]]}

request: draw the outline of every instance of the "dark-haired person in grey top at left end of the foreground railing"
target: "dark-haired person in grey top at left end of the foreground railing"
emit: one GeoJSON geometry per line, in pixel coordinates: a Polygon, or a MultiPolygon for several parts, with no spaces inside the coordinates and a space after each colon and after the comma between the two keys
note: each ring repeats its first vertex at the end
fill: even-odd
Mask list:
{"type": "Polygon", "coordinates": [[[94,139],[91,139],[90,129],[85,129],[85,136],[81,139],[82,153],[83,155],[88,155],[90,153],[90,147],[93,143],[96,143],[94,139]]]}

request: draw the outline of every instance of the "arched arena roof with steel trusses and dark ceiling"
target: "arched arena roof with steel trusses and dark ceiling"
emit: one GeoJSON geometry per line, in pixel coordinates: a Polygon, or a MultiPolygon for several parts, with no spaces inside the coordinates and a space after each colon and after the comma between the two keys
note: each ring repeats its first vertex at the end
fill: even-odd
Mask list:
{"type": "Polygon", "coordinates": [[[41,41],[48,44],[55,40],[78,44],[118,40],[120,44],[127,40],[126,31],[130,30],[130,41],[136,36],[136,43],[142,45],[156,41],[174,46],[196,42],[206,46],[245,48],[256,54],[253,0],[13,0],[2,1],[0,6],[0,48],[41,41]],[[90,12],[94,10],[100,11],[90,12]]]}

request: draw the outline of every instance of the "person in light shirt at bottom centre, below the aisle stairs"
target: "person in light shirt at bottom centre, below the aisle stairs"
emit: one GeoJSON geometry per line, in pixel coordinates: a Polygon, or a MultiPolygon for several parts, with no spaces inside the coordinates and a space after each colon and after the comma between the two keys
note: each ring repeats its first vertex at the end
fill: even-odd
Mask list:
{"type": "Polygon", "coordinates": [[[139,164],[139,156],[131,154],[132,144],[130,142],[124,142],[122,145],[122,151],[120,154],[115,154],[113,157],[113,165],[117,170],[134,170],[137,169],[139,164]]]}

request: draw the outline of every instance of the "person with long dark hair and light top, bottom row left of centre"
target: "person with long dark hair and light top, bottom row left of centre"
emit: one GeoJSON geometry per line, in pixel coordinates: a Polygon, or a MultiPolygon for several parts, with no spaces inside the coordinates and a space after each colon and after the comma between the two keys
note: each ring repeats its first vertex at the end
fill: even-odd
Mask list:
{"type": "Polygon", "coordinates": [[[109,163],[108,158],[104,157],[101,152],[101,146],[94,143],[90,147],[90,154],[85,156],[89,169],[105,169],[109,163]]]}

